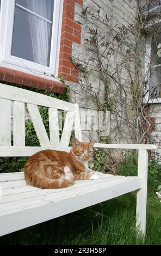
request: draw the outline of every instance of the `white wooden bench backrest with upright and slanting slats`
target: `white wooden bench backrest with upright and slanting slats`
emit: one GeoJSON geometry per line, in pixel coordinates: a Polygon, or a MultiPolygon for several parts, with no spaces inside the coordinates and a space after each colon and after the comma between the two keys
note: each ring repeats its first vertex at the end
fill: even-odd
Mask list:
{"type": "Polygon", "coordinates": [[[82,141],[77,104],[0,83],[0,156],[30,156],[46,148],[69,150],[73,124],[75,136],[82,141]],[[11,101],[14,102],[13,146],[11,146],[11,101]],[[41,147],[25,146],[25,106],[41,147]],[[48,107],[49,138],[38,106],[48,107]],[[61,139],[59,139],[58,109],[66,111],[61,139]]]}

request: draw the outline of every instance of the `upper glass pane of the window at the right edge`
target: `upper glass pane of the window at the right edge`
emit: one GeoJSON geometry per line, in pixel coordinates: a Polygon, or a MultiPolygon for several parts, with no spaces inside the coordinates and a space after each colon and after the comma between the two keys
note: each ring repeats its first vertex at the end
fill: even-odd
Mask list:
{"type": "Polygon", "coordinates": [[[160,50],[161,49],[161,34],[152,38],[152,65],[161,64],[160,50]]]}

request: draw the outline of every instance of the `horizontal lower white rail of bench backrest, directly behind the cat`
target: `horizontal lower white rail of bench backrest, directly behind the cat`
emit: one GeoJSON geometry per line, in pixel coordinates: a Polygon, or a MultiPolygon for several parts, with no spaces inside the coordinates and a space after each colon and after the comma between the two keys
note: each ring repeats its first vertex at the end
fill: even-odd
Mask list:
{"type": "Polygon", "coordinates": [[[31,156],[40,150],[51,149],[51,150],[61,150],[70,151],[69,148],[64,147],[1,147],[0,146],[0,156],[31,156]]]}

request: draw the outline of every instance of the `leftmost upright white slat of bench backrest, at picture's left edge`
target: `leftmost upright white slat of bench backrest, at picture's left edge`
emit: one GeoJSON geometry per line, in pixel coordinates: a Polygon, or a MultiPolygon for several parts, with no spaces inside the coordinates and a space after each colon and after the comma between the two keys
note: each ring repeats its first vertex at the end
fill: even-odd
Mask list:
{"type": "Polygon", "coordinates": [[[5,99],[0,99],[0,145],[11,145],[11,102],[5,99]]]}

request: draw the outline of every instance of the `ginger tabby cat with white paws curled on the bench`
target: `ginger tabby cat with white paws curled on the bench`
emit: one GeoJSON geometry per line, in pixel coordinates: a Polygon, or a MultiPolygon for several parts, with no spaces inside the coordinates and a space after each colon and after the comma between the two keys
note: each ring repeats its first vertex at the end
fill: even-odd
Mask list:
{"type": "Polygon", "coordinates": [[[97,174],[86,172],[94,144],[95,141],[79,142],[75,138],[70,153],[42,150],[30,156],[24,166],[27,184],[40,188],[63,188],[71,186],[75,180],[98,179],[97,174]]]}

